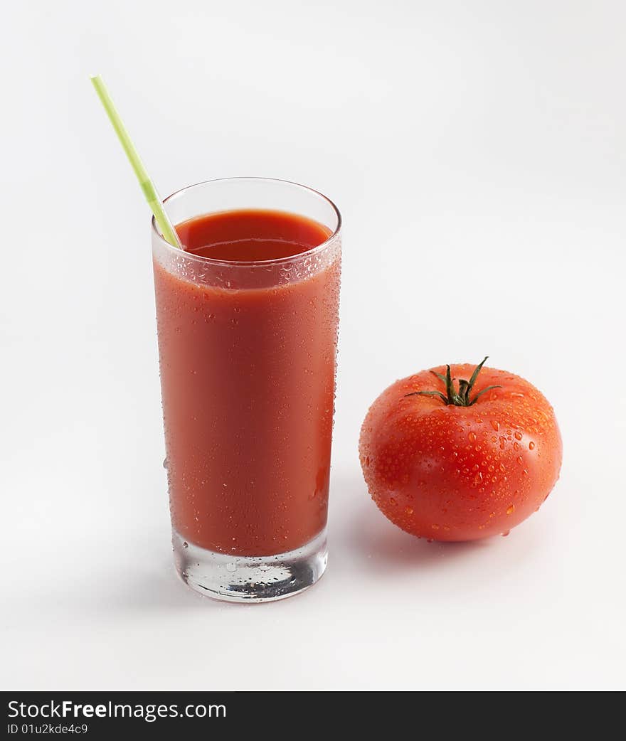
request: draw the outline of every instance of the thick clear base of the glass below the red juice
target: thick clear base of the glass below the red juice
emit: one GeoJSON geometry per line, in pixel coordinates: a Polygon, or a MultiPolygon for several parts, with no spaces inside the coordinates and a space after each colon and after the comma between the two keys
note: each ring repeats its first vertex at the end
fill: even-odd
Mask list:
{"type": "Polygon", "coordinates": [[[196,592],[227,602],[270,602],[292,597],[324,574],[326,528],[302,548],[276,556],[229,556],[185,541],[173,531],[176,570],[196,592]]]}

